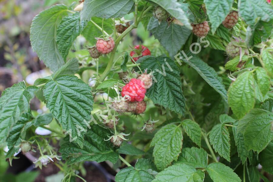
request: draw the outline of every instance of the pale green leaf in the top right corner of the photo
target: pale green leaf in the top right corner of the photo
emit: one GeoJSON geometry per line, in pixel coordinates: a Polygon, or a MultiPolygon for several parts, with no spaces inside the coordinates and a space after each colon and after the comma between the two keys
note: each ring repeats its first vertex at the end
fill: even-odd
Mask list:
{"type": "Polygon", "coordinates": [[[273,9],[266,1],[239,0],[239,15],[249,25],[254,25],[258,18],[268,22],[273,17],[273,9]]]}

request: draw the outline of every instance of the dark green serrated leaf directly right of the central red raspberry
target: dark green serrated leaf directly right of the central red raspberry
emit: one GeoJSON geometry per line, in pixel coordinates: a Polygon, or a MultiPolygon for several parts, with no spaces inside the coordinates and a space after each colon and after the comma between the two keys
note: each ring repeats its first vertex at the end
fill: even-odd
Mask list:
{"type": "Polygon", "coordinates": [[[149,57],[141,62],[140,68],[152,70],[153,85],[147,90],[146,96],[154,104],[160,104],[183,115],[185,98],[181,89],[180,71],[175,62],[168,57],[149,57]]]}

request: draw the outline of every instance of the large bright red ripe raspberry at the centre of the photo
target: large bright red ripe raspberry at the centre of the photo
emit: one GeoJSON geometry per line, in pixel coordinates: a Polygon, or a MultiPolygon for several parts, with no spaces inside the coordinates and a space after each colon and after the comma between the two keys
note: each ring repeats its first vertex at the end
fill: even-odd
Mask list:
{"type": "Polygon", "coordinates": [[[129,96],[129,101],[140,102],[144,99],[146,89],[142,87],[143,83],[140,79],[132,78],[129,83],[127,83],[121,91],[121,96],[129,96]]]}

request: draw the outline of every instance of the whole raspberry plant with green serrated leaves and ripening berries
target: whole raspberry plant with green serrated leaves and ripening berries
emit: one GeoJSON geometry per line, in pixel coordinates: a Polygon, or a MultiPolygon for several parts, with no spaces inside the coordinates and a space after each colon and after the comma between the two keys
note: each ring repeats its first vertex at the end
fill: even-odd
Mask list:
{"type": "Polygon", "coordinates": [[[79,177],[83,161],[106,160],[121,169],[116,182],[268,181],[270,2],[85,0],[72,7],[54,5],[32,21],[32,49],[52,75],[2,93],[0,141],[7,143],[10,161],[21,140],[35,140],[37,167],[62,160],[63,181],[79,177]],[[139,35],[139,57],[140,46],[129,43],[134,29],[153,35],[139,35]],[[32,114],[34,96],[49,113],[32,114]],[[35,134],[38,126],[50,130],[60,147],[35,134]]]}

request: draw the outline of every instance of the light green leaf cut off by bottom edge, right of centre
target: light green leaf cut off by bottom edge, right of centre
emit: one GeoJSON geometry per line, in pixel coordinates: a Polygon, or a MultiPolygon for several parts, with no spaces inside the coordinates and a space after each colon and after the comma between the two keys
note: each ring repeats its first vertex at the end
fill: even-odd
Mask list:
{"type": "MultiPolygon", "coordinates": [[[[202,171],[203,172],[203,171],[202,171]]],[[[205,174],[185,163],[174,164],[156,175],[153,182],[203,182],[205,174]]]]}

